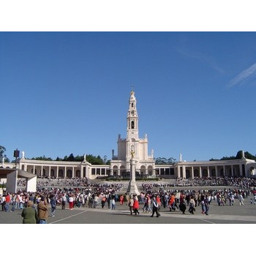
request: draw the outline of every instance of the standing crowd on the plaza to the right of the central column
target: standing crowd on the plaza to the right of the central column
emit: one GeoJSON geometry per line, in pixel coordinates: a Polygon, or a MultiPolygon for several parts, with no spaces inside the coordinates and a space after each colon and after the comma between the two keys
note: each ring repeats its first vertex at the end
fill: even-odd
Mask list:
{"type": "Polygon", "coordinates": [[[256,204],[256,189],[146,189],[140,193],[140,204],[144,204],[143,211],[151,212],[151,198],[157,197],[159,207],[176,209],[184,212],[187,207],[190,214],[194,214],[195,207],[202,207],[202,214],[208,215],[211,203],[218,206],[233,206],[238,200],[240,206],[244,205],[244,199],[253,196],[251,203],[256,204]]]}

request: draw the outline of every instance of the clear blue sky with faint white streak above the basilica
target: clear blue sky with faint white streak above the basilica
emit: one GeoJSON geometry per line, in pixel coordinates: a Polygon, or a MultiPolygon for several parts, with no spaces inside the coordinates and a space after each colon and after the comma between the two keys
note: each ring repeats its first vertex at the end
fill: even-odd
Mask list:
{"type": "Polygon", "coordinates": [[[134,86],[155,157],[256,154],[255,74],[255,32],[1,32],[0,145],[110,159],[134,86]]]}

